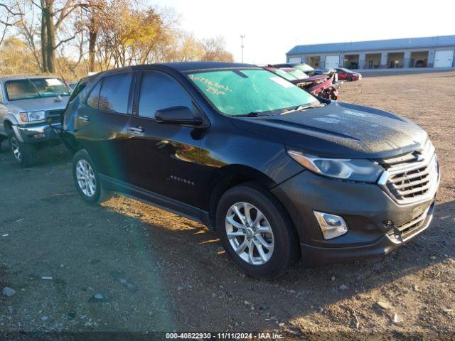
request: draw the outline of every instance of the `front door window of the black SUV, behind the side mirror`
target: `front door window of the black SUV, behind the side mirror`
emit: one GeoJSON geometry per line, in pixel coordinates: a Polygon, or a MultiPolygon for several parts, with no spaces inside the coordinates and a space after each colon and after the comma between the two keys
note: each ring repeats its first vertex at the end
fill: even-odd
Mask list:
{"type": "Polygon", "coordinates": [[[144,72],[139,94],[139,116],[154,118],[157,110],[178,106],[191,107],[191,98],[183,87],[162,72],[144,72]]]}

